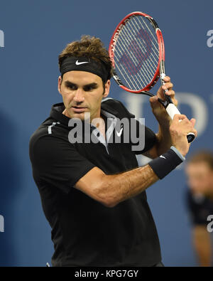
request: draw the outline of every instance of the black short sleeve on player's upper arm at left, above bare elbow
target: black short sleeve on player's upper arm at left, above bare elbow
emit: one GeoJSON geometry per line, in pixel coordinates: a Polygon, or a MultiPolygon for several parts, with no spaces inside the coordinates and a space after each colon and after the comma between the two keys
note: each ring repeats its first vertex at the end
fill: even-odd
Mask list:
{"type": "Polygon", "coordinates": [[[48,135],[31,140],[30,158],[36,184],[48,183],[65,193],[95,166],[70,142],[48,135]]]}

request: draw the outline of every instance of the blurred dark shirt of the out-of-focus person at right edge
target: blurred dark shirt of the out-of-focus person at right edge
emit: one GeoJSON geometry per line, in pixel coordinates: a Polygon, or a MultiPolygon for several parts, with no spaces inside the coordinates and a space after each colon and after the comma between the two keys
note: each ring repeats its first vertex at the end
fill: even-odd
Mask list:
{"type": "Polygon", "coordinates": [[[193,194],[187,187],[186,199],[192,224],[207,226],[209,223],[207,218],[213,214],[213,198],[202,194],[193,194]]]}

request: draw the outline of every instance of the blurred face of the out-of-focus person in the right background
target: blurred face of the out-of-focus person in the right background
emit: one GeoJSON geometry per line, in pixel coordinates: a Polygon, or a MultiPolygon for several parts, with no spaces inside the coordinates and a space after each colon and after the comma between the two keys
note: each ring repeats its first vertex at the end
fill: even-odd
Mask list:
{"type": "Polygon", "coordinates": [[[195,193],[213,194],[213,171],[203,162],[190,163],[186,167],[187,184],[195,193]]]}

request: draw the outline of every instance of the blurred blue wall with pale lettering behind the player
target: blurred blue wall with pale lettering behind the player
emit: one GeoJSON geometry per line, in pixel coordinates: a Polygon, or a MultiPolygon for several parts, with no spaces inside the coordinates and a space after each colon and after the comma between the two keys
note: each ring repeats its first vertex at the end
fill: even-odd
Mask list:
{"type": "MultiPolygon", "coordinates": [[[[53,255],[50,227],[33,181],[28,157],[31,134],[61,102],[58,54],[82,34],[97,36],[108,48],[119,21],[143,11],[158,22],[165,40],[166,73],[175,85],[180,111],[197,118],[199,137],[190,153],[212,149],[212,0],[19,0],[0,1],[0,265],[45,266],[53,255]],[[1,33],[2,34],[2,33],[1,33]],[[4,43],[4,45],[3,45],[4,43]]],[[[156,88],[153,89],[157,90],[156,88]]],[[[155,132],[148,97],[122,92],[112,81],[111,97],[129,107],[155,132]]],[[[143,164],[144,159],[138,159],[143,164]]],[[[183,167],[148,189],[166,266],[196,266],[185,208],[183,167]]]]}

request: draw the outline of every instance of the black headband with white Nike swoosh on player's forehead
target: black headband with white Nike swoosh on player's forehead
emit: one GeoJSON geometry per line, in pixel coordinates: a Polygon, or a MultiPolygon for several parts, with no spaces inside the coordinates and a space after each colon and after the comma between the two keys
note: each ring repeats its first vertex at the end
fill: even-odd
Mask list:
{"type": "Polygon", "coordinates": [[[98,75],[104,82],[109,79],[109,72],[105,67],[104,63],[99,63],[97,60],[92,60],[92,58],[86,57],[67,57],[62,61],[60,66],[60,73],[64,75],[68,71],[80,70],[87,71],[98,75]]]}

